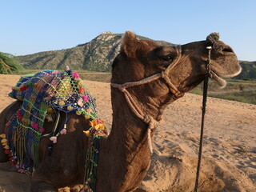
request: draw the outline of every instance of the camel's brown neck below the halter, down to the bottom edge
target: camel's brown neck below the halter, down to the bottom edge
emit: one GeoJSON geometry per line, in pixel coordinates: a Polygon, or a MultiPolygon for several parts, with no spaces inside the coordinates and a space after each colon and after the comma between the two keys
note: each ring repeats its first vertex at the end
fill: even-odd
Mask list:
{"type": "MultiPolygon", "coordinates": [[[[136,182],[142,181],[150,166],[148,125],[134,115],[120,92],[112,92],[112,129],[110,136],[102,140],[99,154],[98,174],[106,173],[107,178],[98,182],[102,185],[102,182],[113,182],[113,178],[116,181],[107,191],[132,191],[134,188],[130,187],[139,185],[136,182]]],[[[103,186],[98,187],[106,192],[103,186]]]]}

